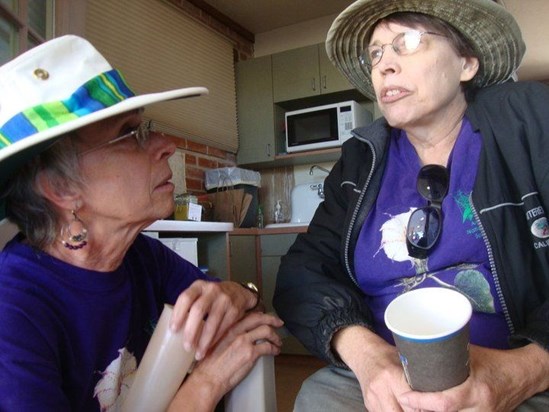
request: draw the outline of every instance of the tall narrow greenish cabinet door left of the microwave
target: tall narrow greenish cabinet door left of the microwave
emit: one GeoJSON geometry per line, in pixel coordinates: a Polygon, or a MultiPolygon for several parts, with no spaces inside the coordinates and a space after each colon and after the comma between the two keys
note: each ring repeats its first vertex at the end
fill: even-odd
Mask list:
{"type": "Polygon", "coordinates": [[[236,66],[239,164],[266,162],[275,155],[271,56],[236,66]]]}

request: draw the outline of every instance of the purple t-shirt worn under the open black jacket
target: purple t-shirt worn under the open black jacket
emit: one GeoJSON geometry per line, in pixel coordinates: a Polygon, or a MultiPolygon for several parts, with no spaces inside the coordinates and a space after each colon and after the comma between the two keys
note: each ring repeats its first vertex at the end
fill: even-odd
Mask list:
{"type": "Polygon", "coordinates": [[[374,328],[388,342],[393,339],[383,320],[387,305],[403,292],[439,286],[458,289],[473,303],[472,343],[509,347],[509,328],[470,203],[481,147],[480,136],[464,119],[447,165],[450,187],[442,203],[442,233],[422,261],[408,256],[406,248],[410,214],[427,205],[416,189],[422,165],[405,132],[392,132],[381,190],[355,251],[357,280],[372,310],[374,328]]]}

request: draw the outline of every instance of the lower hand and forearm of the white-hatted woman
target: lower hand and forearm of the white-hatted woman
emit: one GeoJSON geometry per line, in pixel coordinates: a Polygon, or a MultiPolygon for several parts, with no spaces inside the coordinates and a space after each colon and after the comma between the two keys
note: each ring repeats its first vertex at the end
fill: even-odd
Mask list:
{"type": "Polygon", "coordinates": [[[280,353],[282,340],[276,329],[282,325],[273,315],[248,314],[195,365],[170,410],[213,410],[223,395],[246,377],[260,356],[280,353]]]}

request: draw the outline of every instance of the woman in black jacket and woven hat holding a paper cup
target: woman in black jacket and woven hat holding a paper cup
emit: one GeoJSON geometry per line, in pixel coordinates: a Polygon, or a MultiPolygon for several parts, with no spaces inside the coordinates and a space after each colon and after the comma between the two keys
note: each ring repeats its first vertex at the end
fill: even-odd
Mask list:
{"type": "Polygon", "coordinates": [[[331,364],[296,410],[548,410],[549,89],[512,80],[517,23],[490,0],[359,0],[326,49],[383,118],[343,145],[278,273],[275,309],[331,364]],[[384,311],[432,286],[473,303],[470,375],[420,393],[384,311]]]}

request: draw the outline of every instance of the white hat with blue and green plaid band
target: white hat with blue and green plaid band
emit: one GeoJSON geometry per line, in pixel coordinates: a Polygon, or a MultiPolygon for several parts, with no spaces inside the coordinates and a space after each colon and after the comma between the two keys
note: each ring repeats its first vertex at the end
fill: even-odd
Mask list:
{"type": "Polygon", "coordinates": [[[204,87],[189,87],[136,96],[87,40],[69,35],[41,44],[0,67],[0,190],[64,133],[152,103],[205,94],[204,87]]]}

